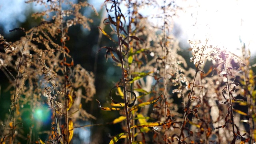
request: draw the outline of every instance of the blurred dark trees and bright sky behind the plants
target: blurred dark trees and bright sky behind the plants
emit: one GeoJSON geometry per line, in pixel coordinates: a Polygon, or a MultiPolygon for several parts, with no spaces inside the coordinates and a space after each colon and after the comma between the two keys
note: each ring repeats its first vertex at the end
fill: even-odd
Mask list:
{"type": "MultiPolygon", "coordinates": [[[[80,0],[72,0],[74,3],[80,0]]],[[[207,0],[208,1],[208,0],[207,0]]],[[[86,70],[94,72],[96,95],[92,102],[86,103],[86,111],[96,117],[96,120],[91,122],[80,122],[78,125],[88,124],[106,124],[111,122],[114,118],[119,116],[119,112],[102,111],[98,108],[98,104],[95,99],[100,102],[108,102],[109,90],[114,86],[121,77],[120,68],[113,65],[113,61],[104,56],[105,52],[99,52],[98,48],[102,46],[111,46],[108,38],[102,37],[100,41],[98,26],[102,19],[106,18],[106,10],[103,6],[104,0],[88,0],[88,3],[92,4],[99,13],[96,16],[92,8],[82,8],[84,16],[91,18],[94,22],[90,23],[91,30],[83,29],[82,26],[72,26],[68,32],[70,40],[67,43],[67,47],[70,49],[70,55],[74,58],[74,64],[81,64],[86,70]]],[[[241,41],[246,44],[251,51],[251,62],[255,63],[256,55],[256,29],[254,26],[256,23],[254,19],[250,17],[250,14],[256,13],[255,1],[236,1],[226,2],[231,5],[228,9],[223,6],[220,0],[214,0],[204,2],[204,0],[198,0],[196,6],[193,6],[194,0],[190,2],[184,0],[177,0],[177,4],[181,7],[186,7],[183,10],[184,13],[180,14],[179,18],[174,19],[174,27],[171,33],[179,40],[179,46],[182,48],[182,56],[186,58],[189,67],[193,67],[193,64],[189,62],[190,54],[188,51],[189,44],[188,39],[202,39],[203,36],[211,35],[216,39],[215,41],[220,46],[228,48],[229,51],[238,55],[240,52],[238,49],[241,47],[241,41]],[[198,6],[198,2],[201,4],[200,10],[195,10],[198,6]],[[210,2],[210,4],[209,4],[210,2]],[[251,3],[250,3],[251,2],[251,3]],[[234,6],[232,6],[234,5],[234,6]],[[245,8],[245,9],[243,9],[245,8]],[[253,10],[253,11],[252,11],[253,10]],[[223,13],[223,12],[228,13],[223,13]],[[198,16],[194,16],[197,12],[198,16]],[[193,15],[194,14],[194,15],[193,15]],[[196,20],[195,20],[196,19],[196,20]],[[194,22],[197,21],[197,24],[194,22]],[[231,27],[233,26],[233,27],[231,27]],[[200,31],[198,31],[200,30],[200,31]],[[220,34],[221,33],[221,34],[220,34]],[[221,36],[221,37],[220,37],[221,36]],[[226,43],[223,43],[225,41],[226,43]]],[[[40,23],[40,20],[35,20],[31,17],[34,12],[44,10],[44,6],[35,4],[25,4],[24,0],[0,0],[0,34],[4,36],[6,41],[15,42],[19,40],[22,33],[9,32],[14,28],[23,27],[25,30],[29,30],[33,26],[40,23]]],[[[154,8],[142,8],[140,10],[142,16],[148,17],[156,12],[154,8]]],[[[157,20],[153,17],[148,18],[149,21],[158,24],[157,20]]],[[[111,30],[107,29],[109,33],[111,30]]],[[[205,39],[205,38],[204,38],[205,39]]],[[[4,121],[10,109],[10,95],[6,89],[8,89],[8,78],[0,71],[0,119],[4,121]]],[[[50,121],[47,121],[45,116],[47,110],[42,108],[36,113],[38,121],[43,123],[44,128],[48,126],[50,128],[50,121]],[[46,119],[43,120],[42,119],[46,119]]],[[[26,115],[24,115],[26,118],[26,115]]],[[[111,136],[114,136],[122,132],[120,124],[107,124],[103,126],[93,126],[86,128],[77,128],[74,131],[75,138],[73,143],[90,142],[90,135],[92,141],[98,143],[108,143],[111,136]]],[[[43,138],[42,138],[43,139],[43,138]]]]}

